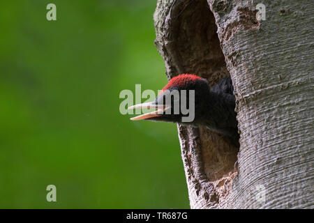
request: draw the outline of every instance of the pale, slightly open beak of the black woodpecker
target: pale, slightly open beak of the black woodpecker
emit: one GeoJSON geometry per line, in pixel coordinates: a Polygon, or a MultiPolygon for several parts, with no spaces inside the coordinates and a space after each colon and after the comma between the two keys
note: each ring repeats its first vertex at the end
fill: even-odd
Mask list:
{"type": "Polygon", "coordinates": [[[166,107],[165,105],[156,105],[155,102],[146,102],[138,105],[133,105],[131,107],[128,107],[128,109],[157,109],[154,112],[149,112],[146,114],[141,114],[140,116],[135,116],[133,118],[130,118],[132,121],[142,120],[142,119],[148,119],[148,118],[154,118],[161,116],[165,110],[169,109],[170,107],[166,107]]]}

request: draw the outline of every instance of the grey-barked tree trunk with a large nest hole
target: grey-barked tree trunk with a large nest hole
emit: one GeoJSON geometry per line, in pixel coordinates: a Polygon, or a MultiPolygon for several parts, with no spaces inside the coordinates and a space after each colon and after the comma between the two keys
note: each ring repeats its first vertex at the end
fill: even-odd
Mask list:
{"type": "Polygon", "coordinates": [[[178,125],[191,208],[314,208],[313,8],[158,0],[155,43],[168,79],[194,73],[213,85],[230,75],[237,99],[239,151],[207,128],[178,125]]]}

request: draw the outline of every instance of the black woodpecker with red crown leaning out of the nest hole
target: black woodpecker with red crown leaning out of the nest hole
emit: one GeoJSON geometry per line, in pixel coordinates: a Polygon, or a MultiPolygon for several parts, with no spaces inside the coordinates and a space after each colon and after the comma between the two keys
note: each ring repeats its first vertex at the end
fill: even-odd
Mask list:
{"type": "Polygon", "coordinates": [[[131,120],[149,120],[149,121],[167,121],[181,123],[184,125],[206,125],[207,128],[219,134],[227,136],[232,144],[239,148],[239,133],[237,114],[234,112],[235,97],[233,95],[232,80],[230,77],[220,79],[218,84],[209,88],[207,79],[203,79],[196,75],[183,74],[170,79],[168,84],[158,94],[154,102],[147,102],[139,105],[134,105],[128,109],[135,108],[154,108],[154,112],[142,114],[130,118],[131,120]],[[186,90],[186,97],[182,98],[179,94],[179,100],[174,97],[174,90],[179,93],[181,90],[186,90]],[[194,98],[190,98],[188,93],[194,90],[194,98]],[[170,100],[167,100],[167,97],[170,100]],[[193,121],[184,122],[183,117],[188,116],[181,109],[182,100],[186,100],[186,107],[190,109],[190,100],[194,103],[194,119],[193,121]],[[179,110],[174,109],[176,101],[179,101],[179,110]],[[179,111],[179,112],[178,112],[179,111]]]}

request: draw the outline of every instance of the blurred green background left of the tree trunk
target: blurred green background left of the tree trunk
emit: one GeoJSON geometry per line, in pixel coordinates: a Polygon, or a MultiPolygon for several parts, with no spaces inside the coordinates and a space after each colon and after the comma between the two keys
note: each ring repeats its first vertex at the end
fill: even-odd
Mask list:
{"type": "Polygon", "coordinates": [[[0,6],[0,208],[188,208],[176,125],[119,113],[167,83],[156,0],[0,6]]]}

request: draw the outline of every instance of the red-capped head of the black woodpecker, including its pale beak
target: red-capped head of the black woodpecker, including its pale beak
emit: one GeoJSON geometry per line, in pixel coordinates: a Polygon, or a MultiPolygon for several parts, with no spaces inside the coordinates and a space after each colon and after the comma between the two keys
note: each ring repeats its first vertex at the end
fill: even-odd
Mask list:
{"type": "Polygon", "coordinates": [[[206,79],[196,75],[178,75],[170,79],[154,102],[134,105],[128,109],[156,109],[154,112],[130,118],[136,120],[168,121],[197,125],[207,109],[209,86],[206,79]],[[193,113],[193,114],[192,114],[193,113]]]}

